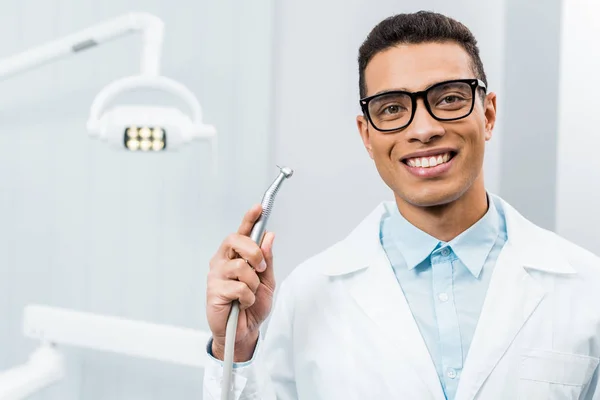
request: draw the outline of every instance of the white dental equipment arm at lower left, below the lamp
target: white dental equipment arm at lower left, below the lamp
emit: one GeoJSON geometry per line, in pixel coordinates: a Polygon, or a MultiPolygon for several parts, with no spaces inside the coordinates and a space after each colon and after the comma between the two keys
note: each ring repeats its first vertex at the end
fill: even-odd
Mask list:
{"type": "Polygon", "coordinates": [[[24,365],[0,372],[0,400],[25,399],[61,380],[65,363],[59,345],[203,368],[210,337],[188,328],[41,305],[25,308],[23,329],[40,346],[24,365]]]}

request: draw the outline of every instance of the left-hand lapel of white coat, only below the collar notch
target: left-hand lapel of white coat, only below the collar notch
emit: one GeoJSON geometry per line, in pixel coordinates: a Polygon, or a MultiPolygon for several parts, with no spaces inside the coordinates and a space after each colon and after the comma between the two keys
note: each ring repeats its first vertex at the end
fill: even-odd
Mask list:
{"type": "Polygon", "coordinates": [[[383,249],[376,251],[368,268],[345,280],[345,286],[381,332],[382,337],[374,339],[390,344],[391,365],[408,365],[431,394],[428,398],[443,400],[435,366],[383,249]]]}

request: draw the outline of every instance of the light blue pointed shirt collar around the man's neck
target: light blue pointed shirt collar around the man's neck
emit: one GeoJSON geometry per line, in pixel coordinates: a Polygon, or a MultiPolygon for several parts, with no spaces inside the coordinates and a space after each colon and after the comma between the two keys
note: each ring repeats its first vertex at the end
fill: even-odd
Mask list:
{"type": "Polygon", "coordinates": [[[446,244],[469,271],[478,277],[500,230],[498,210],[488,196],[488,211],[469,229],[449,243],[442,242],[408,222],[397,207],[389,210],[390,231],[406,265],[413,269],[421,264],[436,247],[446,244]]]}

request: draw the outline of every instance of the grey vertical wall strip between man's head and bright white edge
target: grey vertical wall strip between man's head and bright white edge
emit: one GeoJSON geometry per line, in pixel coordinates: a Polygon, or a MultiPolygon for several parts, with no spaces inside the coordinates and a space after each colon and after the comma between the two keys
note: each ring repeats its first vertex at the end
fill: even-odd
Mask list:
{"type": "Polygon", "coordinates": [[[501,194],[534,223],[556,228],[562,0],[506,0],[501,194]],[[534,156],[535,154],[535,156],[534,156]]]}

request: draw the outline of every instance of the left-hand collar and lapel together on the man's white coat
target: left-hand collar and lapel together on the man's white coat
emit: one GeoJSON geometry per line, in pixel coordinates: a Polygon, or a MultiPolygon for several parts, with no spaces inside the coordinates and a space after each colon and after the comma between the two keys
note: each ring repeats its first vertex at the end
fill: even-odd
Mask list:
{"type": "Polygon", "coordinates": [[[394,203],[381,203],[335,246],[324,273],[339,279],[360,311],[373,321],[378,336],[372,340],[389,344],[384,355],[388,361],[382,365],[413,372],[410,376],[399,373],[393,384],[414,386],[413,393],[429,394],[419,394],[419,400],[444,400],[435,365],[379,240],[381,219],[389,207],[395,207],[394,203]]]}

